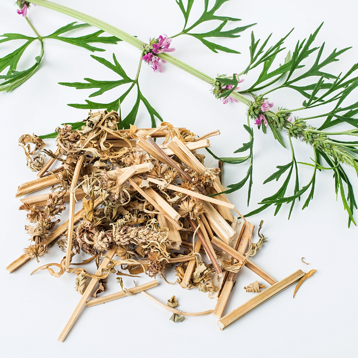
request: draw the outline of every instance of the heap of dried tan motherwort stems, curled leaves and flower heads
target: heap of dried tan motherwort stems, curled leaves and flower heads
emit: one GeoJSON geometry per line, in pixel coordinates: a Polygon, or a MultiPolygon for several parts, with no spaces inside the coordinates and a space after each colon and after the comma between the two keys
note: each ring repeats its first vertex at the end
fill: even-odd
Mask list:
{"type": "MultiPolygon", "coordinates": [[[[259,242],[252,243],[254,226],[224,194],[218,194],[225,190],[219,180],[220,170],[204,166],[205,156],[195,152],[209,147],[208,138],[219,135],[219,131],[198,138],[188,129],[174,128],[166,122],[149,129],[118,129],[118,123],[121,120],[116,111],[98,111],[90,112],[82,127],[57,128],[57,150],[43,149],[50,160],[41,165],[31,155],[43,148],[44,142],[35,135],[24,135],[19,140],[21,144],[35,144],[33,151],[29,146],[24,148],[28,166],[39,173],[36,180],[19,186],[16,197],[49,187],[57,192],[21,199],[20,210],[28,211],[27,219],[32,223],[25,227],[31,244],[7,270],[13,272],[32,258],[38,261],[56,242],[65,252],[60,263],[47,263],[34,271],[48,270],[54,277],[77,275],[76,290],[82,297],[60,341],[85,305],[91,307],[138,292],[171,311],[173,322],[182,322],[183,316],[213,313],[223,329],[242,315],[238,307],[241,313],[234,310],[221,318],[242,266],[273,285],[261,293],[264,286],[258,281],[247,286],[250,289],[245,287],[249,292],[265,295],[263,301],[304,276],[299,270],[277,282],[249,260],[267,239],[260,234],[259,242]],[[162,143],[153,138],[161,138],[162,143]],[[50,170],[56,161],[61,166],[50,170]],[[75,201],[80,199],[83,208],[76,213],[75,201]],[[70,218],[55,228],[60,221],[55,216],[65,210],[65,202],[69,202],[70,218]],[[81,252],[89,256],[79,265],[94,261],[96,273],[78,264],[73,266],[73,258],[81,252]],[[204,263],[205,256],[208,263],[204,263]],[[55,272],[53,266],[59,271],[55,272]],[[214,311],[177,310],[172,304],[175,297],[170,305],[161,303],[145,292],[158,284],[155,279],[129,289],[123,287],[121,275],[160,275],[166,281],[166,272],[173,266],[181,287],[198,288],[217,301],[214,311]],[[119,276],[121,291],[97,297],[104,292],[110,274],[119,276]],[[88,277],[91,280],[87,281],[88,277]],[[94,299],[88,300],[91,295],[94,299]]],[[[42,154],[37,156],[43,158],[42,154]]],[[[262,223],[260,229],[261,226],[262,223]]],[[[249,301],[251,309],[257,302],[249,301]]]]}

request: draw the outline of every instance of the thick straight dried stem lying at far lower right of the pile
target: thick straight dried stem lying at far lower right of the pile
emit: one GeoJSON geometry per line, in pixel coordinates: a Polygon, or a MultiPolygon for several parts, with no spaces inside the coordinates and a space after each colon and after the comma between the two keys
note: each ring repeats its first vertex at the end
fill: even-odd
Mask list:
{"type": "Polygon", "coordinates": [[[285,288],[297,282],[304,275],[304,272],[302,272],[301,270],[297,270],[293,274],[287,276],[283,280],[275,283],[271,287],[257,294],[255,297],[245,302],[241,306],[235,308],[228,315],[218,320],[217,324],[219,325],[220,329],[223,330],[227,328],[228,326],[236,322],[238,319],[240,319],[242,316],[248,314],[254,308],[258,307],[260,304],[266,302],[270,298],[282,292],[285,288]]]}

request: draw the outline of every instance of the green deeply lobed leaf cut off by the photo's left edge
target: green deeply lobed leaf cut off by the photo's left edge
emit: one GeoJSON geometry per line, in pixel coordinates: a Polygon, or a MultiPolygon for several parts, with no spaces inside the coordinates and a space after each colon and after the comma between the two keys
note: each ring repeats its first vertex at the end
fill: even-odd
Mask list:
{"type": "Polygon", "coordinates": [[[18,87],[20,84],[24,83],[26,80],[28,80],[38,69],[39,64],[43,58],[44,51],[43,51],[43,40],[45,39],[57,39],[60,41],[68,42],[71,44],[74,44],[76,46],[83,47],[89,51],[105,51],[104,49],[100,49],[97,47],[93,47],[89,45],[88,43],[91,42],[100,42],[100,43],[113,43],[116,44],[118,41],[120,41],[119,38],[115,36],[99,36],[103,33],[103,31],[97,31],[93,34],[89,34],[86,36],[81,37],[63,37],[59,36],[63,33],[82,28],[85,26],[89,26],[88,24],[77,24],[76,22],[68,24],[66,26],[61,27],[60,29],[56,30],[54,33],[43,36],[41,38],[38,37],[30,37],[26,35],[21,34],[4,34],[1,37],[4,37],[0,40],[0,43],[12,41],[12,40],[26,40],[26,42],[21,45],[19,48],[17,48],[15,51],[11,52],[10,54],[0,58],[0,73],[3,72],[6,68],[8,69],[8,73],[6,75],[0,76],[0,79],[5,80],[4,82],[0,83],[0,92],[1,91],[11,91],[12,89],[18,87]],[[25,50],[28,48],[28,46],[34,41],[39,40],[41,43],[41,52],[40,55],[35,58],[35,64],[32,65],[29,69],[25,71],[16,71],[18,62],[23,56],[25,50]]]}

